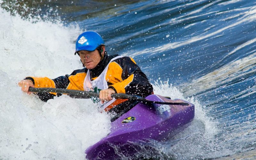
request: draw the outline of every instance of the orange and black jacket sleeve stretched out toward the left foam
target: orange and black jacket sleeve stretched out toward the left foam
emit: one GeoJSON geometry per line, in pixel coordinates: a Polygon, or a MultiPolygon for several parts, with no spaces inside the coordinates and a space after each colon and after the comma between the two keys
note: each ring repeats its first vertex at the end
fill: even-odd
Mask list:
{"type": "MultiPolygon", "coordinates": [[[[31,80],[36,88],[62,88],[72,90],[83,90],[83,80],[86,73],[84,69],[78,69],[73,71],[70,75],[59,76],[54,79],[48,77],[26,77],[25,79],[31,80]]],[[[38,92],[36,93],[42,101],[53,99],[55,96],[62,95],[61,93],[53,92],[38,92]]],[[[73,96],[74,97],[74,96],[73,96]]]]}

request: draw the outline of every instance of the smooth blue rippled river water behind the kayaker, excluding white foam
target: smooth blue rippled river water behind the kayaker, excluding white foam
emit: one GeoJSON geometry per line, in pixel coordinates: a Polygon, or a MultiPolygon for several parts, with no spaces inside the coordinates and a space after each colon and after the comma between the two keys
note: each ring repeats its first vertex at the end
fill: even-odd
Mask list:
{"type": "Polygon", "coordinates": [[[152,84],[171,84],[197,100],[218,128],[214,139],[197,134],[163,142],[153,158],[214,159],[256,148],[256,1],[2,1],[1,7],[33,23],[96,31],[108,54],[133,57],[152,84]]]}

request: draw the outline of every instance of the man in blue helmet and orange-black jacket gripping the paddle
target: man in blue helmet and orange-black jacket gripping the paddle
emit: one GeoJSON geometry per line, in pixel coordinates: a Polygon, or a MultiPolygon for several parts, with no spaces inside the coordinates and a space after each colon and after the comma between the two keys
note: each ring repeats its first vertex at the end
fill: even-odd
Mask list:
{"type": "MultiPolygon", "coordinates": [[[[83,69],[70,75],[55,79],[48,77],[26,77],[19,82],[21,90],[31,94],[29,87],[63,88],[70,90],[93,91],[100,93],[100,99],[94,102],[112,100],[114,93],[126,93],[146,97],[153,92],[147,76],[131,57],[118,54],[108,55],[102,37],[93,31],[86,31],[76,40],[76,52],[83,64],[83,69]]],[[[43,101],[60,96],[60,93],[37,93],[43,101]]]]}

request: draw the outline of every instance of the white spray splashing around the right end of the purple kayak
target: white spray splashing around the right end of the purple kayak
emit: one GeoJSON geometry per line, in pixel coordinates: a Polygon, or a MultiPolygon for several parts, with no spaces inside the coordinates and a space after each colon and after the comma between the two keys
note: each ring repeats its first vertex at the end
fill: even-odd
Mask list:
{"type": "Polygon", "coordinates": [[[156,82],[154,93],[169,96],[171,99],[187,100],[195,105],[195,117],[191,125],[170,140],[156,145],[159,152],[167,154],[171,159],[214,158],[233,153],[222,148],[223,144],[216,140],[218,122],[206,116],[204,106],[198,100],[194,97],[185,98],[172,84],[162,81],[156,82]]]}

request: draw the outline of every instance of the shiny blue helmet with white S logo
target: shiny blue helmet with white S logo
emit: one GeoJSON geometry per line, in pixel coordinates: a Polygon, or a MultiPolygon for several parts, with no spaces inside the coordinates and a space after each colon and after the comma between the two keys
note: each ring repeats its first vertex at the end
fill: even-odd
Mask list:
{"type": "Polygon", "coordinates": [[[78,51],[94,51],[99,46],[105,45],[102,37],[93,31],[86,31],[79,35],[76,40],[76,53],[78,51]]]}

